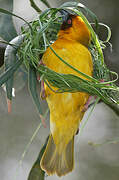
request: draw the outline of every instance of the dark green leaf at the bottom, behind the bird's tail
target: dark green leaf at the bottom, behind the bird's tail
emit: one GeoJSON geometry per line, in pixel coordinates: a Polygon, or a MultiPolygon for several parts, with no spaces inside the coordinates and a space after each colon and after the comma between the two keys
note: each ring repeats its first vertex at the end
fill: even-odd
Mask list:
{"type": "Polygon", "coordinates": [[[28,180],[44,180],[45,172],[40,167],[40,161],[41,161],[42,155],[45,151],[45,148],[46,148],[46,145],[48,142],[48,138],[49,137],[47,137],[46,142],[45,142],[44,146],[42,147],[42,149],[38,155],[38,158],[29,173],[28,180]]]}

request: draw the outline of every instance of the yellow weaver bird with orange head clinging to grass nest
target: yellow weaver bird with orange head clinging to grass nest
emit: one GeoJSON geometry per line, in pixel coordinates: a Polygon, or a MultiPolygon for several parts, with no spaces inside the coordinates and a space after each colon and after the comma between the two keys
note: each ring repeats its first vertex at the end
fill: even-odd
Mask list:
{"type": "MultiPolygon", "coordinates": [[[[73,67],[92,76],[93,63],[88,50],[91,40],[90,31],[80,16],[64,12],[63,24],[57,40],[51,47],[73,67]]],[[[42,61],[55,72],[74,74],[86,79],[61,62],[51,48],[47,48],[42,61]]],[[[89,94],[84,92],[55,93],[46,84],[44,88],[50,109],[51,134],[40,165],[48,175],[63,176],[74,168],[74,136],[83,118],[89,94]]]]}

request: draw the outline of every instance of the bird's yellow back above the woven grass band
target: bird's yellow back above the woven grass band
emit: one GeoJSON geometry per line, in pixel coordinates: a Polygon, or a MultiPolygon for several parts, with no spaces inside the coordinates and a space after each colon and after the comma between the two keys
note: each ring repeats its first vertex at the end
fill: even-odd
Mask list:
{"type": "MultiPolygon", "coordinates": [[[[75,68],[88,75],[92,74],[92,58],[88,49],[82,44],[76,41],[58,39],[52,45],[52,48],[61,58],[75,68]]],[[[43,62],[46,66],[58,73],[69,73],[80,76],[79,73],[61,62],[50,48],[44,54],[43,62]]]]}

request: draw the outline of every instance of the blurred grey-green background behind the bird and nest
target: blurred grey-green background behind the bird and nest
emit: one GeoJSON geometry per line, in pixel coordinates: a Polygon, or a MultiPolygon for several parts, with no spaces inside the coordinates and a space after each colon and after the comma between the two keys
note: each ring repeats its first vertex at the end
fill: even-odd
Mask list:
{"type": "MultiPolygon", "coordinates": [[[[40,0],[35,1],[42,9],[45,6],[40,0]]],[[[53,7],[62,2],[50,0],[53,7]]],[[[119,74],[119,1],[118,0],[82,0],[80,1],[91,9],[99,18],[99,22],[106,23],[112,30],[111,43],[113,51],[108,47],[105,50],[105,61],[111,70],[119,74]]],[[[30,7],[29,0],[0,0],[0,8],[13,11],[26,20],[37,17],[36,12],[30,7]]],[[[20,33],[23,22],[0,13],[0,37],[11,40],[20,33]],[[17,33],[16,33],[17,32],[17,33]]],[[[106,38],[106,31],[100,29],[100,38],[106,38]]],[[[0,62],[3,61],[3,49],[0,49],[0,62]]],[[[21,77],[16,83],[21,86],[21,77]]],[[[46,104],[42,101],[45,110],[46,104]]],[[[88,116],[90,109],[85,114],[88,116]]],[[[31,136],[40,123],[39,115],[28,93],[27,85],[16,93],[13,99],[12,113],[7,113],[5,92],[0,89],[0,179],[26,180],[29,171],[36,160],[40,148],[49,133],[47,128],[41,127],[33,143],[28,148],[23,163],[19,160],[31,136]]],[[[119,117],[103,103],[95,107],[81,136],[75,138],[75,170],[61,180],[118,180],[119,179],[119,117]],[[108,144],[113,139],[116,143],[108,144]],[[88,142],[104,143],[102,146],[91,146],[88,142]]],[[[46,177],[47,180],[58,180],[56,176],[46,177]]]]}

